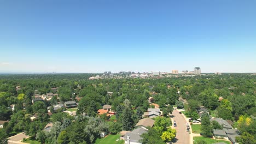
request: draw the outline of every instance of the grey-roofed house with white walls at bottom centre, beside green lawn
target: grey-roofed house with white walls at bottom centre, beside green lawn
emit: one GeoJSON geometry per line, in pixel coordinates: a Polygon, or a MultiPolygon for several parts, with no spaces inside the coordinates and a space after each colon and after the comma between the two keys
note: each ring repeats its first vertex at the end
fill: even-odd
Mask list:
{"type": "Polygon", "coordinates": [[[142,139],[141,135],[146,133],[148,129],[139,127],[124,135],[125,144],[139,144],[142,139]]]}

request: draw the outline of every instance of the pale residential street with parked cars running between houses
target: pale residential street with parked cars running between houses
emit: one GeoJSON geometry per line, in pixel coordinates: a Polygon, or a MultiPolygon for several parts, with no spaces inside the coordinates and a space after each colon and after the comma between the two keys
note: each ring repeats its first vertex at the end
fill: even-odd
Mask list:
{"type": "Polygon", "coordinates": [[[177,131],[176,134],[176,142],[174,143],[182,143],[182,144],[189,144],[189,132],[187,132],[187,121],[182,116],[182,114],[179,114],[178,110],[173,110],[173,121],[176,121],[177,127],[174,127],[177,131]]]}

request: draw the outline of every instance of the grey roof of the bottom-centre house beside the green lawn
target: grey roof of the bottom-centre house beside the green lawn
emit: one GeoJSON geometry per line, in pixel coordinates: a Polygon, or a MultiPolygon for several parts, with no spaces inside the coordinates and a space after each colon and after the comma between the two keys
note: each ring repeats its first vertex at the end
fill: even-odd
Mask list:
{"type": "Polygon", "coordinates": [[[141,135],[143,133],[146,133],[148,131],[148,129],[144,128],[144,127],[139,127],[136,128],[134,130],[132,130],[130,133],[126,133],[124,135],[124,139],[127,140],[127,136],[130,136],[130,142],[139,142],[139,140],[142,139],[141,135]]]}

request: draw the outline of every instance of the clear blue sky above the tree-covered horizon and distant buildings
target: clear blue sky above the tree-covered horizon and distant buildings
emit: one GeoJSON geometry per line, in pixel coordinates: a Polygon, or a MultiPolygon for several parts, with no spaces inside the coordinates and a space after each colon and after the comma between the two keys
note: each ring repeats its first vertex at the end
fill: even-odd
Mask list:
{"type": "Polygon", "coordinates": [[[256,72],[256,1],[0,1],[0,72],[256,72]]]}

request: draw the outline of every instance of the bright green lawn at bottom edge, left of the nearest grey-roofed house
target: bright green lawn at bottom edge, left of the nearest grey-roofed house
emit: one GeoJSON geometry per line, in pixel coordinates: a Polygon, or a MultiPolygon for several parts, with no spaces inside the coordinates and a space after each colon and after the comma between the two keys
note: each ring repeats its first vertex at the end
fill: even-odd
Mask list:
{"type": "Polygon", "coordinates": [[[102,139],[97,139],[95,144],[123,144],[124,140],[120,140],[120,135],[108,135],[102,139]],[[119,139],[119,141],[116,141],[119,139]]]}

